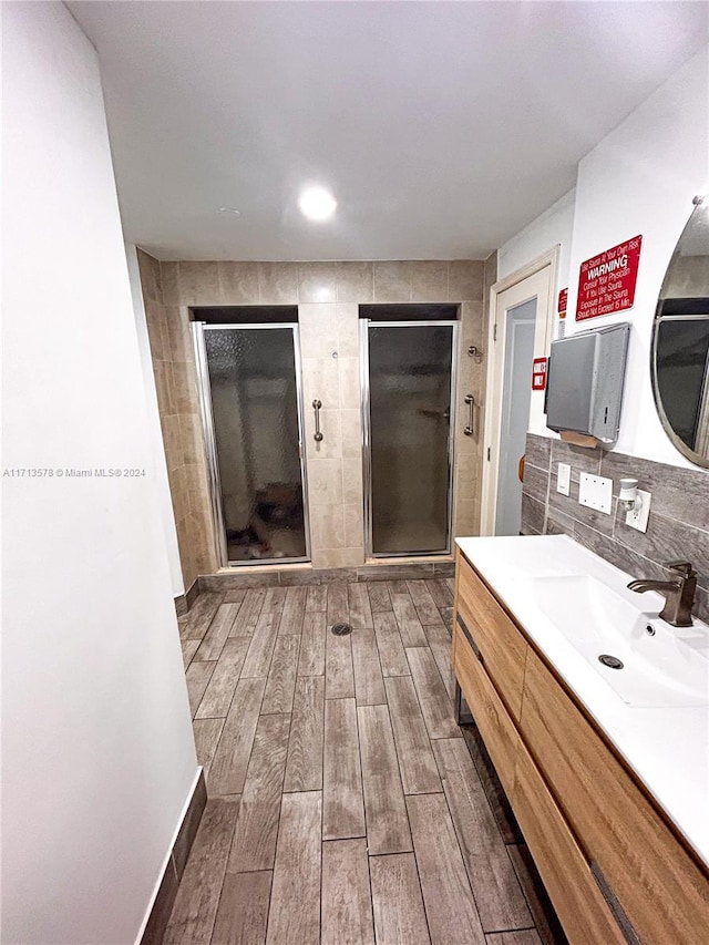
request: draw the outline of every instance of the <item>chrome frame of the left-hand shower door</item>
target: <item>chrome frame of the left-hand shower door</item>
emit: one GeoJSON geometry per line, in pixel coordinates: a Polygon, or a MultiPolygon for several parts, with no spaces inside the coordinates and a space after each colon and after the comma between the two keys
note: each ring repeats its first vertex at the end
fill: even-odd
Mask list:
{"type": "Polygon", "coordinates": [[[207,465],[207,481],[212,504],[212,521],[215,534],[215,547],[217,561],[220,567],[255,567],[265,564],[302,564],[311,561],[310,553],[310,510],[308,506],[308,479],[306,470],[305,451],[305,404],[302,399],[302,368],[300,362],[300,331],[297,321],[274,322],[273,325],[207,325],[204,321],[192,322],[192,337],[195,348],[195,363],[197,367],[197,390],[199,394],[199,413],[202,417],[202,429],[204,431],[205,461],[207,465]],[[268,331],[273,328],[290,328],[292,331],[294,361],[296,367],[296,400],[298,405],[298,456],[300,462],[300,482],[302,487],[302,518],[306,540],[306,554],[304,557],[282,558],[254,558],[253,561],[229,561],[226,525],[224,522],[224,510],[222,504],[222,482],[219,479],[219,461],[217,455],[216,436],[214,432],[214,415],[212,412],[212,384],[209,382],[209,367],[207,364],[207,349],[204,340],[205,331],[214,330],[260,330],[268,331]]]}

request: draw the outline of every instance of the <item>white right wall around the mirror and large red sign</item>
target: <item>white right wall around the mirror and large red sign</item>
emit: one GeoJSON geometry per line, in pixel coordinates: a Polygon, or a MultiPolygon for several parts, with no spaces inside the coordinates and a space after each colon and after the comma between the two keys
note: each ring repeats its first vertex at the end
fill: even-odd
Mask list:
{"type": "MultiPolygon", "coordinates": [[[[615,449],[678,466],[691,464],[672,446],[657,418],[649,350],[657,297],[692,209],[691,198],[709,189],[708,59],[705,49],[631,112],[580,162],[575,191],[500,249],[503,278],[555,243],[562,244],[559,287],[569,286],[567,335],[616,321],[631,322],[615,449]],[[634,308],[575,323],[580,264],[638,234],[643,234],[643,250],[634,308]]],[[[555,435],[534,413],[530,429],[555,435]]]]}

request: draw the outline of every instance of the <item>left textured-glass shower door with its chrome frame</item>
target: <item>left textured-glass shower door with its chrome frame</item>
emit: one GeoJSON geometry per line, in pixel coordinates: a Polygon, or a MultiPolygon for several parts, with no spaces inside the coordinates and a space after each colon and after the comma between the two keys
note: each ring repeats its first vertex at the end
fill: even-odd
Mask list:
{"type": "Polygon", "coordinates": [[[297,323],[193,333],[222,565],[308,561],[297,323]]]}

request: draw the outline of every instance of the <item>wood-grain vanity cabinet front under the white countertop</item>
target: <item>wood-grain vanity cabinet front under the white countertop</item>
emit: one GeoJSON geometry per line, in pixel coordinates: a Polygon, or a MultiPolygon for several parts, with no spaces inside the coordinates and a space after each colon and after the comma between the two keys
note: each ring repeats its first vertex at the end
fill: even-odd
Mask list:
{"type": "Polygon", "coordinates": [[[572,945],[706,945],[707,871],[460,551],[453,668],[572,945]]]}

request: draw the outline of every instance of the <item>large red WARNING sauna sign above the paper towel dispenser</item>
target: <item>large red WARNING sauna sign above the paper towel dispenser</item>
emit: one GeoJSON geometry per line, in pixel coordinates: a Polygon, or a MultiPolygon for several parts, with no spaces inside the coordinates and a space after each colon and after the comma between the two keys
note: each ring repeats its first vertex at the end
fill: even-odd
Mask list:
{"type": "Polygon", "coordinates": [[[641,236],[634,236],[580,264],[576,321],[633,308],[641,236]]]}

